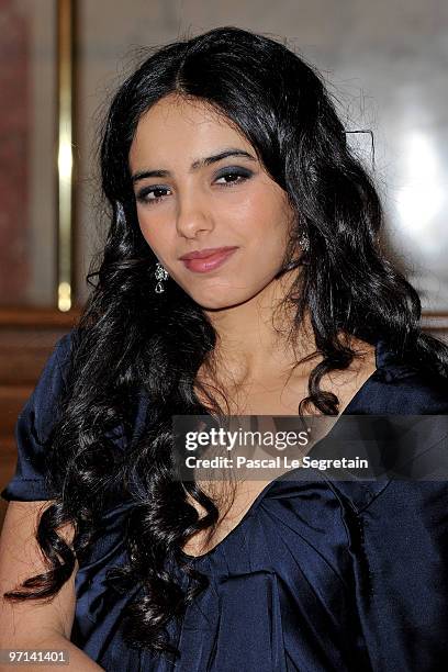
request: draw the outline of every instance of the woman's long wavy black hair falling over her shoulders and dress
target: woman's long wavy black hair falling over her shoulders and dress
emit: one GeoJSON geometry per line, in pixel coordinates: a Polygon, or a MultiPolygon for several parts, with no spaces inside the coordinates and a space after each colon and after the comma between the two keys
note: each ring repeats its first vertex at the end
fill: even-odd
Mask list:
{"type": "Polygon", "coordinates": [[[422,332],[418,294],[381,249],[383,213],[373,180],[350,152],[311,65],[280,42],[234,26],[146,55],[115,93],[101,134],[110,228],[88,275],[91,291],[72,334],[66,390],[48,443],[54,503],[42,514],[36,538],[51,570],[7,596],[55,595],[100,533],[112,493],[130,497],[134,505],[123,530],[128,561],[111,573],[124,590],[143,590],[128,607],[124,636],[131,646],[176,657],[166,626],[208,585],[180,549],[195,531],[213,530],[219,508],[198,483],[175,478],[172,416],[222,407],[208,390],[210,404],[200,403],[194,391],[216,333],[172,279],[163,294],[154,293],[157,258],[139,229],[130,176],[138,121],[170,93],[200,100],[235,124],[284,190],[295,213],[285,265],[294,260],[302,236],[309,239],[300,291],[293,284],[285,299],[294,306],[295,326],[309,311],[322,358],[299,415],[310,405],[322,414],[338,413],[338,397],[321,390],[320,381],[356,356],[341,334],[370,344],[381,338],[403,362],[434,376],[447,376],[448,348],[422,332]],[[149,412],[131,445],[142,392],[149,412]],[[120,455],[111,439],[117,426],[128,440],[120,455]],[[203,517],[191,497],[204,507],[203,517]],[[71,545],[60,535],[66,524],[75,529],[71,545]],[[188,574],[187,589],[171,560],[188,574]]]}

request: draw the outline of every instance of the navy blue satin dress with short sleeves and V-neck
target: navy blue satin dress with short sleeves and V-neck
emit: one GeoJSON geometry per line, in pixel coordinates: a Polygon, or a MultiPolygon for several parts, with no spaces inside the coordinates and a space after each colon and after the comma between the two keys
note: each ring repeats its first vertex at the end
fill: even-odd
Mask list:
{"type": "MultiPolygon", "coordinates": [[[[42,445],[54,422],[69,343],[70,335],[58,341],[19,416],[16,473],[1,493],[5,500],[48,499],[42,445]]],[[[144,428],[147,407],[142,395],[134,436],[144,428]]],[[[380,340],[377,371],[344,414],[447,415],[447,385],[399,365],[380,340]]],[[[445,437],[446,453],[447,448],[445,437]]],[[[107,573],[126,562],[130,506],[121,502],[105,513],[103,534],[76,576],[71,640],[103,669],[448,669],[447,481],[272,481],[215,548],[186,556],[209,575],[210,586],[181,624],[170,624],[181,651],[176,663],[132,649],[122,638],[123,607],[139,589],[119,594],[107,573]]],[[[184,581],[180,570],[179,579],[184,581]]]]}

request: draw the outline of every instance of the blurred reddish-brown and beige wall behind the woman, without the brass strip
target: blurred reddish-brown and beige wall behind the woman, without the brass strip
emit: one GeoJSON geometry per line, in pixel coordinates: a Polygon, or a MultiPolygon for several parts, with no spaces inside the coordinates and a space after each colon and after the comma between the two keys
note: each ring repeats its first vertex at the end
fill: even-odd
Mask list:
{"type": "Polygon", "coordinates": [[[55,339],[76,320],[87,296],[87,269],[101,247],[107,223],[98,208],[93,148],[104,101],[139,47],[219,25],[287,40],[323,72],[346,130],[372,132],[374,157],[368,133],[350,133],[349,142],[374,170],[388,238],[421,291],[427,328],[448,333],[445,0],[0,0],[2,481],[12,469],[18,411],[55,339]],[[58,16],[70,5],[72,302],[60,311],[57,36],[68,38],[58,16]]]}

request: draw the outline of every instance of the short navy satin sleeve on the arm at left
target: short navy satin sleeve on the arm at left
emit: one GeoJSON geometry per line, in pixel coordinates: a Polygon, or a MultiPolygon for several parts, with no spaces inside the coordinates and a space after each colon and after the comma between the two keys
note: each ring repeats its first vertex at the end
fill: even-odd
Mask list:
{"type": "Polygon", "coordinates": [[[45,441],[57,417],[57,402],[65,389],[71,332],[60,338],[22,407],[14,427],[18,455],[15,473],[1,491],[3,500],[35,502],[48,500],[45,483],[45,441]]]}

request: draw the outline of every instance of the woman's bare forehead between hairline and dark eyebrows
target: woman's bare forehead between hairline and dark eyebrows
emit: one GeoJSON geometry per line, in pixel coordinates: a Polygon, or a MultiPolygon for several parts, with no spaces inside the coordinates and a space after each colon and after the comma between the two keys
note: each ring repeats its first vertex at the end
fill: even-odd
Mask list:
{"type": "Polygon", "coordinates": [[[177,163],[232,144],[253,149],[229,120],[199,99],[168,96],[153,105],[139,120],[130,152],[133,167],[150,158],[177,163]]]}

